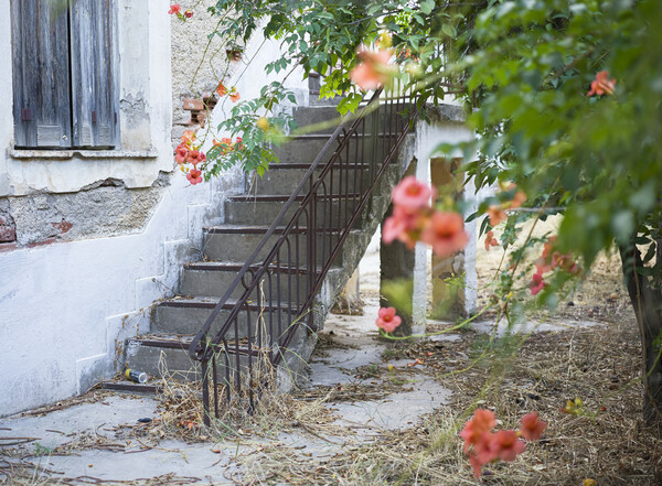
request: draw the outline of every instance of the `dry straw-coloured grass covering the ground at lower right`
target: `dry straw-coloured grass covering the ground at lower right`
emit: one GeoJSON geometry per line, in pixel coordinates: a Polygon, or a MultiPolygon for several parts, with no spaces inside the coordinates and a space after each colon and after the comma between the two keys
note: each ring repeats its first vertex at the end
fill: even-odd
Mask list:
{"type": "Polygon", "coordinates": [[[581,485],[592,478],[600,486],[662,484],[662,441],[660,431],[647,429],[641,420],[639,344],[630,323],[534,334],[522,345],[496,341],[471,369],[449,374],[468,367],[484,350],[482,336],[468,332],[441,347],[430,342],[394,346],[399,357],[425,357],[425,371],[453,391],[449,407],[436,410],[421,424],[384,432],[369,443],[345,436],[338,447],[321,454],[281,443],[263,446],[239,457],[244,473],[234,480],[242,485],[581,485]],[[585,402],[580,414],[560,412],[567,399],[577,397],[585,402]],[[537,410],[549,426],[543,440],[530,444],[515,462],[488,465],[478,482],[458,438],[476,407],[494,410],[500,428],[517,426],[531,410],[537,410]]]}

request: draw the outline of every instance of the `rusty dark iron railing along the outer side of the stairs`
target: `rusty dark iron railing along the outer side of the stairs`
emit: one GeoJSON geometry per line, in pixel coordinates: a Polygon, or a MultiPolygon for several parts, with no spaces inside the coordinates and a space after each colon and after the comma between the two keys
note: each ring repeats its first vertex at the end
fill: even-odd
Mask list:
{"type": "Polygon", "coordinates": [[[406,96],[381,90],[357,112],[329,138],[191,343],[206,424],[212,402],[216,418],[233,397],[247,399],[250,412],[292,339],[318,330],[314,298],[417,115],[406,96]]]}

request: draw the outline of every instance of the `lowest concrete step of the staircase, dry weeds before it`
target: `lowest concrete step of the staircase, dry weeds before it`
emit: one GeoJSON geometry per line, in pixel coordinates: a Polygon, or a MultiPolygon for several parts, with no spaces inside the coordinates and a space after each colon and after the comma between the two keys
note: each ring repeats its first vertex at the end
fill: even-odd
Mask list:
{"type": "MultiPolygon", "coordinates": [[[[200,380],[202,378],[200,363],[189,356],[191,339],[192,336],[169,334],[132,337],[127,341],[125,348],[125,365],[127,368],[147,372],[150,379],[200,380]]],[[[224,378],[234,381],[236,369],[243,374],[247,371],[248,348],[239,343],[239,353],[237,353],[235,345],[236,343],[228,343],[227,350],[218,348],[216,357],[218,381],[223,381],[224,378]]],[[[264,353],[254,348],[254,368],[258,366],[258,361],[266,368],[268,365],[264,360],[264,353]]]]}

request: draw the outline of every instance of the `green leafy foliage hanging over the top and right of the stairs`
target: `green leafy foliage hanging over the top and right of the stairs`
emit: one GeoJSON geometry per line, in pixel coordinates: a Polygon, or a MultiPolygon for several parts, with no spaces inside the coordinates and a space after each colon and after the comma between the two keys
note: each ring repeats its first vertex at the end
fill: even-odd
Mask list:
{"type": "MultiPolygon", "coordinates": [[[[388,33],[399,62],[410,63],[405,51],[418,58],[418,75],[406,79],[419,106],[460,88],[468,110],[479,108],[469,125],[480,137],[463,147],[478,154],[466,166],[477,187],[513,181],[541,214],[563,212],[559,249],[586,266],[638,234],[637,242],[649,245],[643,271],[660,283],[662,262],[650,264],[662,226],[659,1],[220,0],[210,10],[222,19],[215,35],[245,40],[263,26],[287,53],[266,71],[286,76],[301,65],[324,75],[322,96],[346,96],[341,111],[361,99],[349,79],[357,47],[388,33]],[[617,80],[616,93],[587,97],[600,71],[617,80]]],[[[248,170],[274,161],[253,150],[264,137],[252,114],[273,108],[287,97],[281,91],[265,87],[225,122],[255,143],[245,152],[248,170]]]]}

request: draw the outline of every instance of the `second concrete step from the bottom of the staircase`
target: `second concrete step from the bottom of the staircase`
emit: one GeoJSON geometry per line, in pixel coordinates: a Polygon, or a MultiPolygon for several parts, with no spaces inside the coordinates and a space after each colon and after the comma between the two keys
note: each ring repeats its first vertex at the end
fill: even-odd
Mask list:
{"type": "MultiPolygon", "coordinates": [[[[196,334],[205,324],[212,311],[216,307],[218,298],[194,296],[194,298],[174,298],[161,302],[152,315],[151,330],[154,333],[163,334],[196,334]]],[[[236,300],[229,300],[224,305],[214,323],[214,330],[221,328],[231,311],[234,309],[236,300]]],[[[289,327],[290,323],[296,321],[296,310],[289,305],[281,304],[263,305],[250,303],[237,315],[237,327],[233,326],[232,335],[238,337],[248,336],[248,323],[250,323],[250,336],[257,338],[258,331],[263,339],[269,343],[277,342],[278,337],[289,327]]]]}

